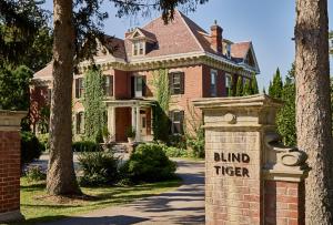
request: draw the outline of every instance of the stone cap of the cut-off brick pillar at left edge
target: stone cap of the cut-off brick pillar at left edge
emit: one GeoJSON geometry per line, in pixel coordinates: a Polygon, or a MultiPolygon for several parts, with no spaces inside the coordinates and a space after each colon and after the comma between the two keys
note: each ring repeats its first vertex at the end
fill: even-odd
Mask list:
{"type": "Polygon", "coordinates": [[[21,120],[28,114],[27,111],[0,110],[0,131],[18,131],[21,120]]]}

